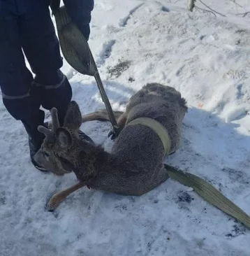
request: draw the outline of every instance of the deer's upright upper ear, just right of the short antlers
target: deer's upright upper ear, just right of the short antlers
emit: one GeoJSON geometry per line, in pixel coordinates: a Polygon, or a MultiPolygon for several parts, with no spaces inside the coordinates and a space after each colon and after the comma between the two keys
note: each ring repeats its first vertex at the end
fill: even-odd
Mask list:
{"type": "Polygon", "coordinates": [[[78,131],[82,125],[82,114],[78,104],[71,101],[68,105],[68,111],[64,118],[64,127],[71,129],[71,131],[78,131]]]}

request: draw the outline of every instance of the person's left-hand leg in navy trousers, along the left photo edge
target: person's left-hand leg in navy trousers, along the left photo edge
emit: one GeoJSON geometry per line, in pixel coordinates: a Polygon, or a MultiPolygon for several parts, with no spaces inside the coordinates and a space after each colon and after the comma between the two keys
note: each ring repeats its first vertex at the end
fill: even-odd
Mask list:
{"type": "Polygon", "coordinates": [[[37,131],[38,125],[43,125],[44,113],[39,110],[40,93],[31,86],[33,76],[25,66],[18,27],[20,17],[16,10],[14,2],[1,4],[0,87],[6,109],[13,118],[22,120],[27,129],[32,151],[40,148],[44,138],[37,131]]]}

